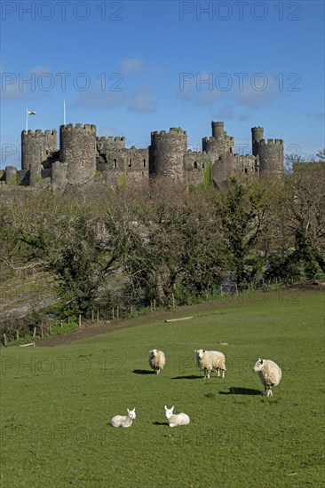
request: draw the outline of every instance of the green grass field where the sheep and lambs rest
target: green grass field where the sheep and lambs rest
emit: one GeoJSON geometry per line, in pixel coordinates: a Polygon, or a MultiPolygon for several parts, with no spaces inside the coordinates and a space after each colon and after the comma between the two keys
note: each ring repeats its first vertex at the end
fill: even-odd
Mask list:
{"type": "Polygon", "coordinates": [[[242,295],[166,317],[64,347],[1,350],[2,488],[325,486],[324,291],[242,295]],[[166,355],[160,375],[147,364],[153,348],[166,355]],[[199,348],[225,353],[225,379],[202,379],[199,348]],[[282,368],[273,397],[252,373],[258,357],[282,368]],[[164,405],[190,424],[168,427],[164,405]],[[109,425],[134,406],[130,429],[109,425]]]}

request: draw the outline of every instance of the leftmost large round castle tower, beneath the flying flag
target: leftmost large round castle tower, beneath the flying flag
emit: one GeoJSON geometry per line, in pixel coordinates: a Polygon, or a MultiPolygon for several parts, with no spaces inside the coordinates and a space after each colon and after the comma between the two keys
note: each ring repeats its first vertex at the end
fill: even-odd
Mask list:
{"type": "Polygon", "coordinates": [[[56,130],[21,131],[21,169],[41,172],[52,153],[57,151],[56,130]]]}

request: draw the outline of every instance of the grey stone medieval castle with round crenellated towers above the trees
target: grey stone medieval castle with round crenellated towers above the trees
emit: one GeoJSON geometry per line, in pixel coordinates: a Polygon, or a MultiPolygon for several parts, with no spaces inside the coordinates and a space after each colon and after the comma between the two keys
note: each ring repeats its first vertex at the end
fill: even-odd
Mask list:
{"type": "Polygon", "coordinates": [[[86,185],[102,181],[111,187],[137,185],[149,177],[167,177],[186,185],[199,185],[210,169],[216,187],[235,173],[247,177],[281,177],[283,140],[265,139],[264,129],[251,129],[252,154],[234,153],[234,138],[224,122],[211,122],[212,135],[202,138],[202,152],[187,149],[185,130],[151,132],[147,148],[125,147],[125,138],[96,137],[96,126],[67,124],[56,130],[22,130],[21,169],[7,166],[7,185],[86,185]]]}

